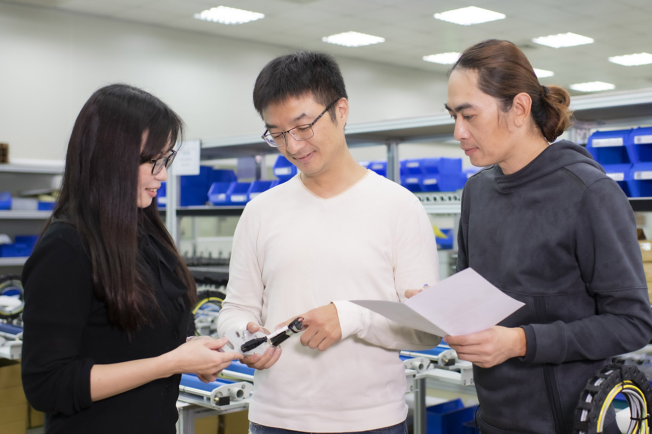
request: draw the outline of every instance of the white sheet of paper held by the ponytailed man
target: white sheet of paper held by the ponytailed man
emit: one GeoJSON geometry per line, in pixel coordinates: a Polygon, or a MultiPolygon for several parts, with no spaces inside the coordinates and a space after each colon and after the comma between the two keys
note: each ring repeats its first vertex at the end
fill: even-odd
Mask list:
{"type": "Polygon", "coordinates": [[[458,336],[490,328],[525,304],[466,268],[404,303],[351,300],[401,325],[437,336],[458,336]]]}

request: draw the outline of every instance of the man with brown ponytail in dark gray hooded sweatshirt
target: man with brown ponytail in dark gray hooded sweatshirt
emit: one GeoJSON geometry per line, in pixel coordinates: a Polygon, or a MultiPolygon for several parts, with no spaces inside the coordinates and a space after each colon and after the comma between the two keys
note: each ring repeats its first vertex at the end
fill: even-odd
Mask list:
{"type": "MultiPolygon", "coordinates": [[[[462,195],[457,270],[526,304],[445,338],[473,362],[482,434],[570,433],[587,380],[652,337],[627,197],[584,147],[553,143],[571,124],[569,102],[504,40],[467,48],[449,74],[454,137],[484,167],[462,195]]],[[[613,409],[604,432],[620,432],[613,409]]]]}

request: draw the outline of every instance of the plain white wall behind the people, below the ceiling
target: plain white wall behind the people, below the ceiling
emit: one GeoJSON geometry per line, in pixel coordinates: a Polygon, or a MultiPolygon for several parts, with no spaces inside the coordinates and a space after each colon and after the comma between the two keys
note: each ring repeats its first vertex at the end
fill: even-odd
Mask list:
{"type": "MultiPolygon", "coordinates": [[[[9,143],[12,159],[63,159],[83,103],[113,81],[168,102],[185,120],[188,138],[256,134],[263,128],[251,103],[254,80],[265,63],[288,51],[0,3],[0,141],[9,143]]],[[[349,91],[349,124],[443,111],[445,76],[338,61],[349,91]]]]}

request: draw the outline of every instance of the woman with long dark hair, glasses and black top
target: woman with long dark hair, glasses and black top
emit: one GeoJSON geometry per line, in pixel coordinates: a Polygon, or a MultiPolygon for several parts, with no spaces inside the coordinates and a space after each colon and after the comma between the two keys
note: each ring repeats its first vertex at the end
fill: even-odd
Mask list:
{"type": "Polygon", "coordinates": [[[213,381],[226,340],[186,342],[196,285],[162,224],[179,116],[98,89],[72,130],[61,194],[23,268],[23,388],[47,433],[174,433],[181,373],[213,381]]]}

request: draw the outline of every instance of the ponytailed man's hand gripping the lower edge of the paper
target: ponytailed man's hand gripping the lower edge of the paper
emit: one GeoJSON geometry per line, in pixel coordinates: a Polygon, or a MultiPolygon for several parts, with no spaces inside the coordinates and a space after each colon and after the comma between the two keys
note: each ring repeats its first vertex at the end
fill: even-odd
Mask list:
{"type": "Polygon", "coordinates": [[[461,360],[480,368],[491,368],[508,358],[526,355],[526,332],[520,327],[493,326],[464,336],[446,336],[444,341],[461,360]]]}

